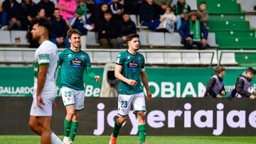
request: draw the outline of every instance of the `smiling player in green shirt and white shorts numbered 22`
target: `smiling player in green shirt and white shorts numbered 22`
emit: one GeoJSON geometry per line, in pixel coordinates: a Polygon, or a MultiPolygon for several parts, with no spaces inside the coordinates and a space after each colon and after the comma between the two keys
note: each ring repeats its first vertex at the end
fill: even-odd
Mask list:
{"type": "Polygon", "coordinates": [[[90,79],[100,82],[100,76],[91,70],[90,57],[80,50],[80,32],[76,29],[68,31],[70,48],[59,53],[61,67],[61,96],[67,111],[64,120],[64,143],[73,143],[78,131],[79,113],[84,109],[85,87],[84,71],[90,79]]]}

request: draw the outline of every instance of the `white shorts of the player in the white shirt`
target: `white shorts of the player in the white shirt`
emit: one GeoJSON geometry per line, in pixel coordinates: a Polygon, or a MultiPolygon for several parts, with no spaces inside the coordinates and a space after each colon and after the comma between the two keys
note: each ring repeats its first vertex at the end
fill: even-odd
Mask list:
{"type": "MultiPolygon", "coordinates": [[[[51,93],[51,92],[50,92],[51,93]]],[[[36,94],[33,95],[33,102],[31,106],[30,115],[31,116],[52,116],[53,115],[53,101],[57,96],[57,92],[53,92],[52,94],[44,94],[41,93],[44,105],[40,108],[37,105],[36,94]]]]}

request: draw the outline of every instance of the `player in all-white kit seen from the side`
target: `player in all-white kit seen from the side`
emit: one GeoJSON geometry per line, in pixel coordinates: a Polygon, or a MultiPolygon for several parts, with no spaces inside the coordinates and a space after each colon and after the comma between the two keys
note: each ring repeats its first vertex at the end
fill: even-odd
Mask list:
{"type": "Polygon", "coordinates": [[[58,50],[48,39],[50,21],[46,18],[34,18],[32,38],[40,43],[34,57],[34,94],[30,111],[29,126],[41,135],[41,143],[62,143],[50,131],[52,105],[57,96],[56,77],[58,67],[58,50]]]}

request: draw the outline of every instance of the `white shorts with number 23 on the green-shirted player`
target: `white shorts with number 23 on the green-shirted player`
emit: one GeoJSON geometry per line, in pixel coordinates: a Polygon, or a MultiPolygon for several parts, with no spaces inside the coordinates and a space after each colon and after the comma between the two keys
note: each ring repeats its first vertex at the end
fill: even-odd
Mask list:
{"type": "Polygon", "coordinates": [[[144,93],[137,94],[119,94],[118,96],[118,114],[127,116],[131,106],[134,108],[134,113],[137,111],[146,111],[146,103],[144,93]]]}

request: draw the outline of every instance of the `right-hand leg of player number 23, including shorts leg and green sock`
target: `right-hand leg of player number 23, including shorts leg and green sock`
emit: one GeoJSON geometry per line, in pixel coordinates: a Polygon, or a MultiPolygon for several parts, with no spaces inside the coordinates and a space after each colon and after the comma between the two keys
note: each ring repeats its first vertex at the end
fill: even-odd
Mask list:
{"type": "Polygon", "coordinates": [[[137,113],[138,118],[138,131],[139,131],[139,143],[144,143],[146,139],[146,121],[145,111],[146,103],[144,93],[134,94],[134,113],[137,113]]]}

